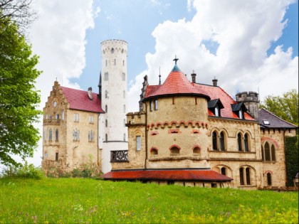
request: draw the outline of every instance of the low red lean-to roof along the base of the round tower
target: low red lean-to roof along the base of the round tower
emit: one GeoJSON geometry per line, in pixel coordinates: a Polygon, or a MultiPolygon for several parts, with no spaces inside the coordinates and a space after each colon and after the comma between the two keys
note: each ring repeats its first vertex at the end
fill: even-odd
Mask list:
{"type": "Polygon", "coordinates": [[[101,176],[105,180],[157,180],[157,181],[232,181],[232,178],[211,170],[122,170],[101,176]]]}

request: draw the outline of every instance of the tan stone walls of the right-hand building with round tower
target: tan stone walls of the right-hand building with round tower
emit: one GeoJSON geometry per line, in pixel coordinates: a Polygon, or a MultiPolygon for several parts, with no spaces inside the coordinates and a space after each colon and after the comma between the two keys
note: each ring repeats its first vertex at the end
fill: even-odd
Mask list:
{"type": "MultiPolygon", "coordinates": [[[[228,105],[231,106],[228,102],[222,117],[215,116],[207,110],[209,99],[206,97],[164,94],[147,98],[147,92],[152,94],[153,91],[148,90],[147,85],[145,77],[140,95],[141,112],[127,114],[128,160],[113,163],[112,171],[211,169],[234,180],[231,183],[174,181],[174,184],[248,190],[285,186],[284,139],[285,136],[294,136],[297,127],[288,124],[288,128],[283,130],[261,125],[256,114],[256,92],[241,92],[236,95],[236,102],[228,95],[221,98],[223,102],[228,101],[232,104],[246,102],[247,107],[251,108],[252,117],[246,115],[246,110],[243,111],[242,117],[236,117],[234,111],[228,115],[227,108],[228,105]],[[256,119],[253,119],[253,116],[256,116],[256,119]],[[141,144],[138,143],[137,137],[140,137],[141,144]],[[141,147],[138,148],[137,144],[141,147]]],[[[216,85],[214,87],[218,88],[216,85]]],[[[159,91],[159,86],[154,88],[159,91]]],[[[224,92],[219,89],[217,91],[221,94],[224,92]]],[[[159,184],[168,182],[150,181],[159,184]]]]}

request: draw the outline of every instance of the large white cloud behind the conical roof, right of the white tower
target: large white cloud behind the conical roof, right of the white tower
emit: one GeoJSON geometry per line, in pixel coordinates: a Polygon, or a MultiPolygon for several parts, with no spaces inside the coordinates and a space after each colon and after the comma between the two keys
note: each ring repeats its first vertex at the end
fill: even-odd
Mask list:
{"type": "MultiPolygon", "coordinates": [[[[219,85],[232,97],[238,91],[258,91],[261,98],[298,89],[298,57],[292,59],[278,47],[267,55],[273,41],[283,34],[287,21],[285,10],[294,1],[192,1],[196,14],[192,21],[164,21],[152,32],[155,52],[147,53],[148,70],[137,75],[129,90],[138,102],[142,77],[149,75],[150,85],[157,85],[159,66],[164,80],[174,63],[188,75],[195,70],[197,82],[211,84],[216,76],[219,85]],[[219,44],[216,55],[203,41],[219,44]],[[136,91],[136,92],[135,92],[136,91]]],[[[191,1],[187,2],[191,6],[191,1]]],[[[138,107],[130,107],[138,110],[138,107]]]]}

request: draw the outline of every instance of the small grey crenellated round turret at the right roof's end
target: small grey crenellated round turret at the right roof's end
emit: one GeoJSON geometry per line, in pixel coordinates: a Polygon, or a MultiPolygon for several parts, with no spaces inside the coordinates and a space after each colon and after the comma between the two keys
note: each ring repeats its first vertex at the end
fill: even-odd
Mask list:
{"type": "Polygon", "coordinates": [[[248,109],[248,114],[254,119],[258,119],[259,97],[257,92],[238,92],[236,102],[243,102],[248,109]]]}

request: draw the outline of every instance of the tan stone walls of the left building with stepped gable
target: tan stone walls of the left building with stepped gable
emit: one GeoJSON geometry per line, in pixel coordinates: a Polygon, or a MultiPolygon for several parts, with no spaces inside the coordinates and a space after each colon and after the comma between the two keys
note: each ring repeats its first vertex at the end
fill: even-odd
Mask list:
{"type": "Polygon", "coordinates": [[[67,172],[84,169],[85,164],[100,166],[99,153],[98,112],[70,109],[55,82],[43,108],[43,169],[67,172]]]}

